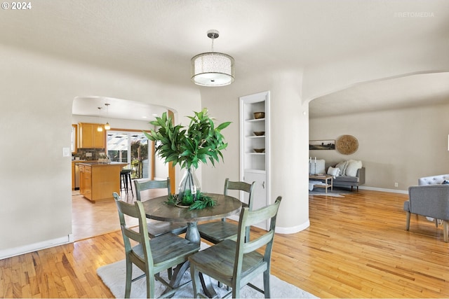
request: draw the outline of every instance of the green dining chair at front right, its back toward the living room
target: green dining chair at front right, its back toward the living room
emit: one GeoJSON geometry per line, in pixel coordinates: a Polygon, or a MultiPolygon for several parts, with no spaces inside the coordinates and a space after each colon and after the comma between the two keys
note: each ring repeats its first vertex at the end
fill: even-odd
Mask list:
{"type": "Polygon", "coordinates": [[[250,211],[248,207],[243,208],[240,213],[236,241],[225,239],[189,256],[194,298],[201,295],[199,293],[201,285],[199,272],[232,287],[232,291],[229,291],[225,297],[232,295],[232,298],[240,298],[240,289],[247,284],[256,291],[264,293],[265,298],[270,297],[269,272],[279,204],[281,204],[280,196],[276,198],[274,204],[255,211],[250,211]],[[246,228],[269,219],[271,221],[267,232],[253,240],[246,239],[246,228]],[[262,246],[265,246],[263,254],[257,251],[262,246]],[[262,273],[263,290],[250,283],[262,273]]]}

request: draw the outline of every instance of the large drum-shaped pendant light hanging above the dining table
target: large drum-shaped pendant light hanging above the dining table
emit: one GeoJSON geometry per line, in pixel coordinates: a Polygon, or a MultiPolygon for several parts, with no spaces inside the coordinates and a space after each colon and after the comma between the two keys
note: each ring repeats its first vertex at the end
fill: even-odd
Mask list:
{"type": "Polygon", "coordinates": [[[212,39],[212,50],[192,57],[192,81],[201,86],[225,86],[234,82],[234,58],[224,53],[213,51],[213,40],[220,33],[209,30],[208,38],[212,39]]]}

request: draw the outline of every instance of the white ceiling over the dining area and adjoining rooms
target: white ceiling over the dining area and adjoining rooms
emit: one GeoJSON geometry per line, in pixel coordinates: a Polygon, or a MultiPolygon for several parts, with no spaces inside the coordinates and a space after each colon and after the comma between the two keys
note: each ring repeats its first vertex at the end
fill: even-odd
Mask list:
{"type": "MultiPolygon", "coordinates": [[[[209,29],[220,31],[214,50],[235,58],[237,81],[448,39],[449,1],[39,0],[29,11],[3,10],[0,24],[0,43],[8,46],[199,88],[190,81],[190,59],[210,50],[209,29]]],[[[418,104],[418,97],[441,102],[447,83],[447,74],[434,74],[358,85],[314,100],[310,114],[418,104]]],[[[87,98],[95,96],[102,95],[87,98]]]]}

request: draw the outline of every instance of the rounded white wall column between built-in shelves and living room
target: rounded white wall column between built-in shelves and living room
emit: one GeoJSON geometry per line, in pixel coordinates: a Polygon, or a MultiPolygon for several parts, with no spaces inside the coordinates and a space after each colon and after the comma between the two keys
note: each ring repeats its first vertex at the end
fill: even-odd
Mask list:
{"type": "Polygon", "coordinates": [[[302,74],[273,74],[271,102],[272,202],[282,196],[276,231],[293,233],[308,228],[309,104],[301,98],[302,74]]]}

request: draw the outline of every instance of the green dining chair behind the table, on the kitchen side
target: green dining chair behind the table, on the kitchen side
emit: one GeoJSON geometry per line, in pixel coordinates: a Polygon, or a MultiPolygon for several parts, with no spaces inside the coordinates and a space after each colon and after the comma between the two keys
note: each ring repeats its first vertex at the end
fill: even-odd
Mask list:
{"type": "MultiPolygon", "coordinates": [[[[141,192],[144,190],[151,189],[167,189],[167,194],[171,194],[170,187],[170,178],[162,181],[155,180],[134,180],[135,186],[135,196],[136,199],[140,202],[142,201],[141,192]]],[[[154,238],[167,232],[173,232],[176,235],[180,235],[184,232],[187,232],[187,224],[186,223],[174,223],[174,222],[165,222],[165,221],[156,221],[150,220],[148,221],[148,233],[150,238],[154,238]]]]}

